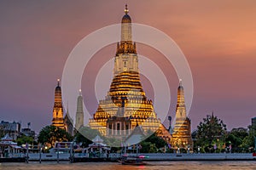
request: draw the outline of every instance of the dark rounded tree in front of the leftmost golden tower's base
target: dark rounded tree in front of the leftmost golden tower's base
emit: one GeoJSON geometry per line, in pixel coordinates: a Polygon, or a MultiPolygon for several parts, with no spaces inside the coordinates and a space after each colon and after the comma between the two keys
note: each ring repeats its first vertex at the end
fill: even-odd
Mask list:
{"type": "Polygon", "coordinates": [[[38,143],[53,147],[55,142],[72,141],[73,137],[64,129],[55,126],[44,127],[38,135],[38,143]]]}

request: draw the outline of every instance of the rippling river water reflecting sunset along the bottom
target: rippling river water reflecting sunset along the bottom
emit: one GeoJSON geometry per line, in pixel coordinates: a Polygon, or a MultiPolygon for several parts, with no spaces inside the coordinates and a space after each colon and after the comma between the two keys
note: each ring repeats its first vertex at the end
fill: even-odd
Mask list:
{"type": "Polygon", "coordinates": [[[256,170],[256,161],[149,161],[147,166],[128,166],[121,165],[119,162],[80,162],[69,163],[65,162],[29,162],[26,163],[0,163],[2,170],[256,170]]]}

